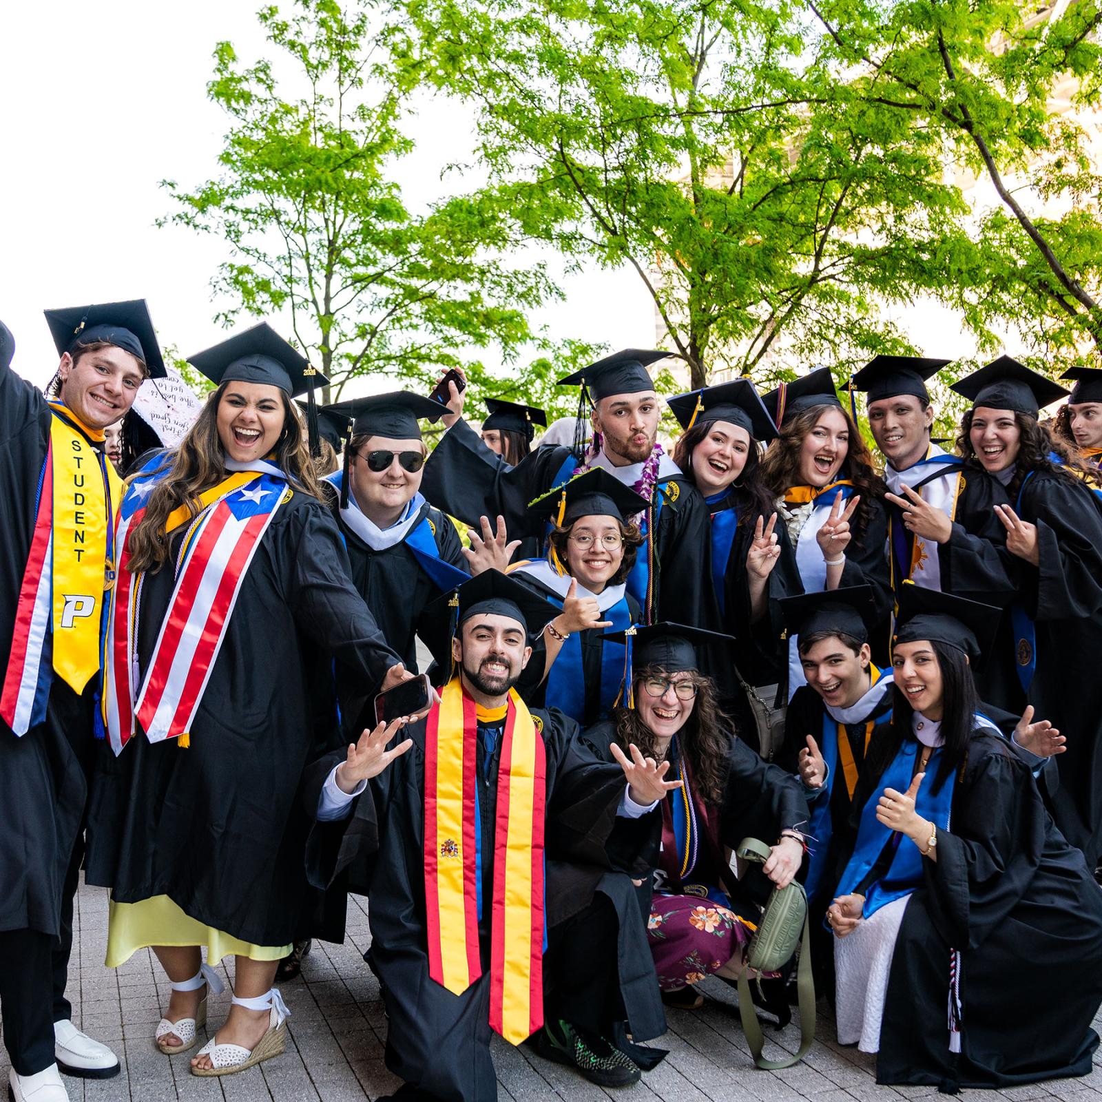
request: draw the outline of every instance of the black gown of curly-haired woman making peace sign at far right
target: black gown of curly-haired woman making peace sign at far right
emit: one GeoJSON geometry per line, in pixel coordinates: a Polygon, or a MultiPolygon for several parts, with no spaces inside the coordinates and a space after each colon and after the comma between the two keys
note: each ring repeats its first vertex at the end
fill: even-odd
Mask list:
{"type": "MultiPolygon", "coordinates": [[[[1020,714],[1033,704],[1067,736],[1056,758],[1059,785],[1041,789],[1061,833],[1087,864],[1102,863],[1102,501],[1070,476],[1038,472],[1024,485],[1015,511],[1037,526],[1040,566],[1001,549],[1016,583],[1017,599],[1034,620],[1037,668],[1028,698],[1014,676],[1008,701],[994,703],[1020,714]]],[[[1017,641],[1004,616],[1000,653],[1011,665],[1017,641]]]]}

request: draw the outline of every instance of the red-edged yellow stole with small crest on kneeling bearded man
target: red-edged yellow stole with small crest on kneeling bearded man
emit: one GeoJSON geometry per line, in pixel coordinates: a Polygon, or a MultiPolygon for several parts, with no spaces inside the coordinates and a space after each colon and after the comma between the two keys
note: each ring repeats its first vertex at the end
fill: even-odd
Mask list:
{"type": "MultiPolygon", "coordinates": [[[[453,678],[429,713],[424,763],[424,886],[429,975],[462,994],[482,975],[475,703],[453,678]]],[[[509,692],[494,829],[490,1027],[519,1045],[543,1025],[545,750],[525,702],[509,692]]]]}

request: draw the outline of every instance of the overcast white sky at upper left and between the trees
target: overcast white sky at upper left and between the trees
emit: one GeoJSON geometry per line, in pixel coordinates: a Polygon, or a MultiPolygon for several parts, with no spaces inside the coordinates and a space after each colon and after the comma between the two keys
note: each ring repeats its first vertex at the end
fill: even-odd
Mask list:
{"type": "MultiPolygon", "coordinates": [[[[208,281],[227,250],[153,223],[170,209],[159,181],[190,186],[215,173],[227,126],[206,99],[215,43],[228,39],[248,62],[276,54],[258,7],[0,4],[0,318],[15,336],[21,375],[41,383],[57,365],[44,307],[144,298],[163,345],[190,355],[224,336],[208,281]]],[[[458,108],[432,107],[411,133],[418,151],[400,177],[415,205],[447,186],[440,169],[464,155],[469,127],[458,108]]],[[[634,273],[594,272],[563,285],[566,302],[534,318],[553,337],[612,347],[653,341],[634,273]]]]}

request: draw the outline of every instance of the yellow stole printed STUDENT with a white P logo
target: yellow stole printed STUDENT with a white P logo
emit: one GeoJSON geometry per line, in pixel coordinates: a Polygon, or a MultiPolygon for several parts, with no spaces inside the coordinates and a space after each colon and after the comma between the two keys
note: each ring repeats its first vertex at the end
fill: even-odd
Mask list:
{"type": "Polygon", "coordinates": [[[115,584],[111,540],[122,499],[115,468],[89,441],[101,431],[51,402],[53,480],[53,666],[74,692],[98,672],[104,593],[115,584]]]}

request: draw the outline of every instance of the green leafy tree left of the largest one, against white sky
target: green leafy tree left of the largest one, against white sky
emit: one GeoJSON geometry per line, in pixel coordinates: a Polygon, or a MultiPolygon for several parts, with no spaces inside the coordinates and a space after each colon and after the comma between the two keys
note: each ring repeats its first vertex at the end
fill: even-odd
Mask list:
{"type": "Polygon", "coordinates": [[[493,194],[404,205],[392,170],[411,149],[412,84],[391,57],[386,12],[300,0],[290,18],[276,7],[258,18],[280,75],[269,61],[242,67],[219,43],[208,85],[230,121],[219,173],[194,191],[164,183],[175,210],[163,222],[229,249],[213,280],[220,318],[287,311],[338,393],[367,372],[428,385],[467,349],[515,356],[527,311],[553,289],[539,266],[503,262],[510,242],[493,194]]]}

